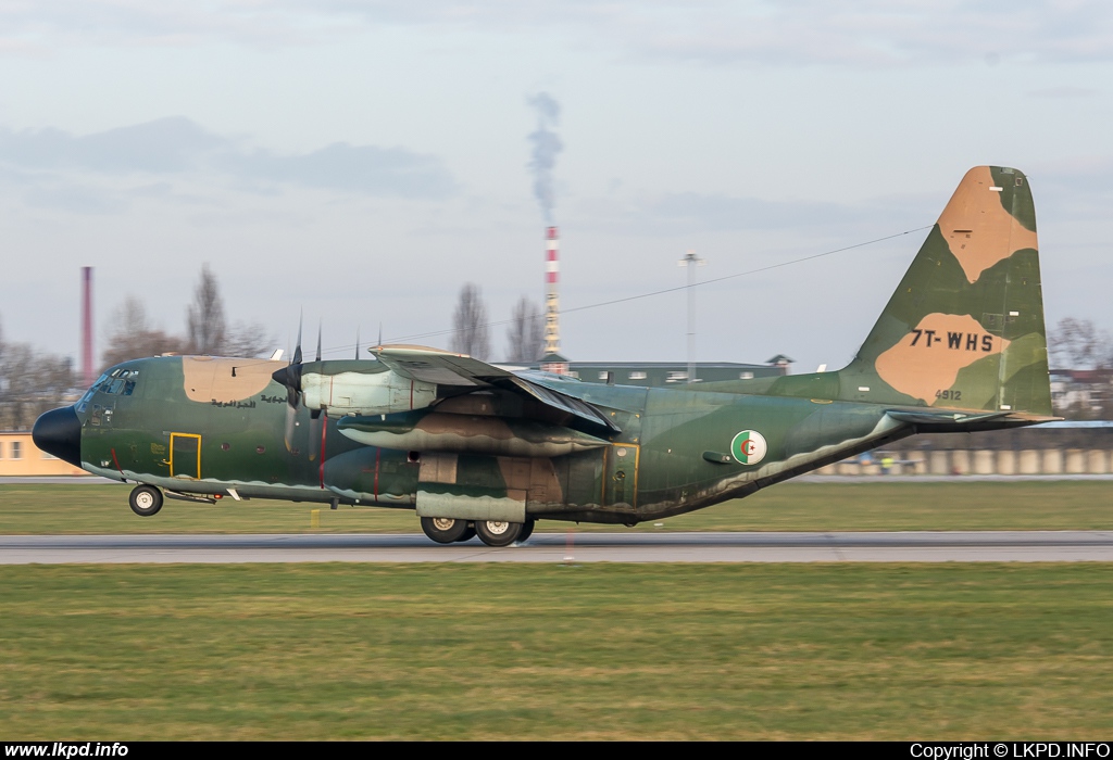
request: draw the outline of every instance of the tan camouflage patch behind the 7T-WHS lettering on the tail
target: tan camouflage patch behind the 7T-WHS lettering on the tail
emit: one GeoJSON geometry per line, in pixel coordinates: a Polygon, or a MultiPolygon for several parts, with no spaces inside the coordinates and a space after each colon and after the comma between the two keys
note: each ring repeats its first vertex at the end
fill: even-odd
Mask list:
{"type": "MultiPolygon", "coordinates": [[[[877,357],[880,378],[902,393],[936,403],[948,391],[958,370],[978,359],[1001,353],[1009,341],[986,332],[968,314],[927,314],[893,348],[877,357]]],[[[947,398],[945,406],[951,403],[947,398]]]]}

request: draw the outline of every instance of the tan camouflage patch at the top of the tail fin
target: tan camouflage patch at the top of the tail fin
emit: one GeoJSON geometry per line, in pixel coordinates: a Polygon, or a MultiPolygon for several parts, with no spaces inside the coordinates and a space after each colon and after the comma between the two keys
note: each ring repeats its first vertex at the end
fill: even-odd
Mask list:
{"type": "Polygon", "coordinates": [[[988,167],[971,169],[939,214],[939,231],[972,283],[1014,251],[1037,248],[1036,233],[1005,210],[993,186],[988,167]]]}

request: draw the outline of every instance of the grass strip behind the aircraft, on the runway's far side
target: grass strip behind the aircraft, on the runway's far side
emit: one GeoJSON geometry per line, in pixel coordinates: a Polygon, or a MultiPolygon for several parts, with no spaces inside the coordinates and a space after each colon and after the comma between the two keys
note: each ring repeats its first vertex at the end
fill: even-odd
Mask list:
{"type": "MultiPolygon", "coordinates": [[[[319,504],[167,500],[152,518],[127,506],[127,486],[0,484],[0,534],[309,532],[319,504]]],[[[410,510],[321,509],[321,532],[415,532],[410,510]]],[[[542,521],[538,530],[567,530],[542,521]]],[[[784,483],[742,500],[633,529],[577,530],[1111,530],[1113,482],[784,483]]]]}

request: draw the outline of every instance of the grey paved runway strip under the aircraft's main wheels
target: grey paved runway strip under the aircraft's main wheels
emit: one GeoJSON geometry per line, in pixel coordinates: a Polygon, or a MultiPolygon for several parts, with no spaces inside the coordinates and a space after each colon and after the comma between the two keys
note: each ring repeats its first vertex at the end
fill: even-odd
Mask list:
{"type": "Polygon", "coordinates": [[[1113,531],[534,533],[505,549],[420,533],[0,537],[0,564],[1110,561],[1113,531]]]}

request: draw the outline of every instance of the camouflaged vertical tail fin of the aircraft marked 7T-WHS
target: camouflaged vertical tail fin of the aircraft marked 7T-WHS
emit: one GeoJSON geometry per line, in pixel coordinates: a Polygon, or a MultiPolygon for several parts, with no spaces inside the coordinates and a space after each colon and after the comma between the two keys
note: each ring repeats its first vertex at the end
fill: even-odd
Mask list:
{"type": "Polygon", "coordinates": [[[1027,178],[1004,167],[966,172],[854,361],[825,374],[790,383],[845,401],[1051,417],[1027,178]]]}

